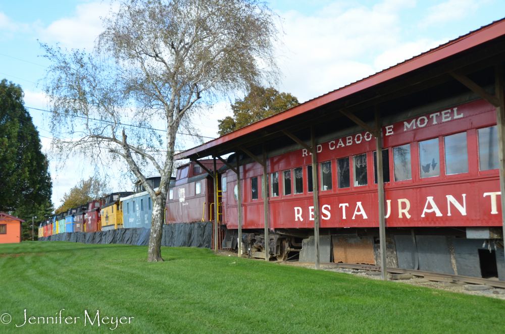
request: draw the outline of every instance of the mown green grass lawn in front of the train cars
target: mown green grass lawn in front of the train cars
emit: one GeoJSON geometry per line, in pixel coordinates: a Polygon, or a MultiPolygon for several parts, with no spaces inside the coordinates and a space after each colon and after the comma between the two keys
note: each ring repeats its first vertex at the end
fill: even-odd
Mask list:
{"type": "Polygon", "coordinates": [[[85,310],[91,320],[97,310],[109,317],[100,319],[105,322],[133,317],[112,331],[126,333],[505,330],[505,302],[497,299],[215,256],[208,249],[162,247],[162,254],[165,262],[148,263],[143,246],[0,245],[0,314],[12,318],[0,323],[0,333],[111,332],[111,324],[98,327],[96,320],[84,326],[85,310]],[[65,309],[63,323],[49,318],[49,324],[18,328],[24,309],[28,318],[59,318],[65,309]]]}

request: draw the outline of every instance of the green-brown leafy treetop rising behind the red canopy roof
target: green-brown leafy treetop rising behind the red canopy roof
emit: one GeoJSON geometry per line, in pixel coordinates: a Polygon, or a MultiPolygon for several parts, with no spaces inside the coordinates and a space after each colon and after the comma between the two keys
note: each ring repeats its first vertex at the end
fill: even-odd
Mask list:
{"type": "Polygon", "coordinates": [[[219,122],[220,136],[261,121],[286,109],[298,105],[298,99],[290,93],[279,93],[273,87],[252,86],[249,93],[231,105],[233,117],[225,117],[219,122]]]}

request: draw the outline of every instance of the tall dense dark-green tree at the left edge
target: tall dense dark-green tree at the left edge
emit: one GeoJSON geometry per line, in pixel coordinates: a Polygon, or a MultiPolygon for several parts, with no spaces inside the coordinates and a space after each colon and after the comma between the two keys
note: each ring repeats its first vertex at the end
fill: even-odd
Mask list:
{"type": "Polygon", "coordinates": [[[47,157],[19,85],[0,82],[0,211],[38,206],[51,199],[47,157]]]}

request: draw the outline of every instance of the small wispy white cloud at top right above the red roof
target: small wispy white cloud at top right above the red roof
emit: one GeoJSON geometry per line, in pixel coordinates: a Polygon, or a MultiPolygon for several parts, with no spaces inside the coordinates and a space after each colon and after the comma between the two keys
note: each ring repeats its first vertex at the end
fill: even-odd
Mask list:
{"type": "Polygon", "coordinates": [[[428,8],[429,14],[419,23],[419,27],[443,26],[447,22],[463,19],[474,13],[483,1],[449,0],[428,8]]]}

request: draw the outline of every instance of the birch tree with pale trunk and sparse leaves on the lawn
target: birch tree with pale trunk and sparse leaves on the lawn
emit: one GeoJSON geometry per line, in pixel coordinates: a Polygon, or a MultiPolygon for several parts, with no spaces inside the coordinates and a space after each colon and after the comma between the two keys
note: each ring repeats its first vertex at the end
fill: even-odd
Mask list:
{"type": "Polygon", "coordinates": [[[79,150],[127,162],[153,199],[148,261],[163,261],[179,129],[192,131],[199,106],[278,78],[276,20],[257,0],[123,0],[104,20],[92,54],[42,44],[53,64],[44,88],[60,135],[54,147],[60,156],[79,150]],[[161,175],[158,190],[146,182],[146,165],[161,175]]]}

